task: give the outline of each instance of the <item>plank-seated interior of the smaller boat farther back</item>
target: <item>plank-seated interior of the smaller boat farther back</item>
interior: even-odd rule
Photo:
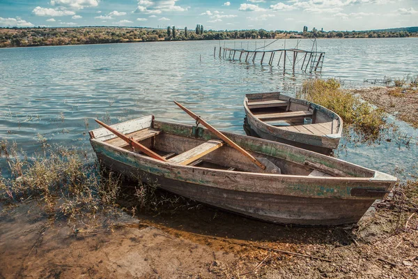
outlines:
[[[339,121],[318,110],[316,105],[300,103],[279,93],[247,94],[248,110],[261,121],[282,130],[311,135],[338,133]]]

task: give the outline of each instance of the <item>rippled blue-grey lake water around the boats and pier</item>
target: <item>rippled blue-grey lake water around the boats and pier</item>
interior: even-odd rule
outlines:
[[[173,103],[178,100],[215,127],[244,133],[245,93],[293,94],[309,74],[283,73],[277,67],[214,59],[213,48],[247,48],[272,40],[191,41],[28,47],[0,49],[0,139],[16,141],[29,154],[39,148],[38,134],[49,144],[77,146],[91,153],[88,130],[95,118],[116,123],[154,114],[156,119],[194,123]],[[267,47],[284,47],[284,40]],[[286,40],[286,47],[311,50],[309,39]],[[318,40],[325,51],[322,77],[346,86],[385,75],[418,74],[418,38]],[[393,118],[392,118],[393,119]],[[410,171],[418,155],[417,130],[396,121],[412,137],[365,146],[346,140],[337,156],[391,174]],[[6,162],[0,159],[0,167]]]

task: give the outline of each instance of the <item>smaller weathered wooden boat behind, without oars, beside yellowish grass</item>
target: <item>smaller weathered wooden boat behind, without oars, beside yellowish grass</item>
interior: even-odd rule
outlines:
[[[343,120],[325,107],[274,92],[245,95],[244,108],[249,135],[326,155],[338,147]]]

